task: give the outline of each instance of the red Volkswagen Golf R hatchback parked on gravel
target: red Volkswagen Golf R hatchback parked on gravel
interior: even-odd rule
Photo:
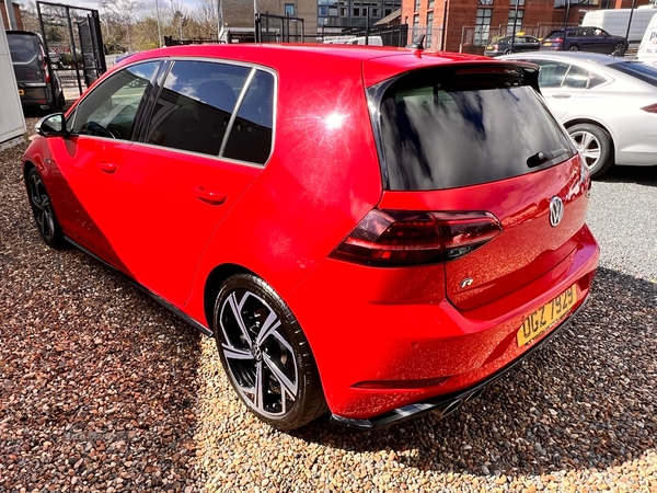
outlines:
[[[530,64],[157,49],[37,133],[44,240],[214,334],[280,429],[448,414],[568,321],[598,263],[587,168]]]

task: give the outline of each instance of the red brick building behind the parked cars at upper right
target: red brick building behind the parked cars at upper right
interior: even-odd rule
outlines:
[[[402,23],[414,35],[426,34],[433,49],[482,54],[488,39],[523,31],[544,36],[564,25],[567,0],[403,0]],[[568,24],[579,24],[586,12],[629,9],[633,0],[570,0]],[[516,5],[516,2],[518,4]],[[635,7],[649,0],[635,0]],[[517,16],[516,16],[517,7]]]

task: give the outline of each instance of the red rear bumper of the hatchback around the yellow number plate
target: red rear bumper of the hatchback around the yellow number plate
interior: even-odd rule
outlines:
[[[333,419],[377,427],[445,412],[508,371],[587,299],[599,249],[586,226],[578,236],[578,246],[555,268],[468,311],[437,299],[445,293],[440,265],[402,271],[325,261],[288,301],[312,347]],[[519,347],[525,319],[573,285],[577,305]]]

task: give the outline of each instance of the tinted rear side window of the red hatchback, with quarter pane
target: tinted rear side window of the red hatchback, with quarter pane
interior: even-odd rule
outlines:
[[[274,77],[212,61],[175,61],[147,141],[264,164],[272,149]],[[237,114],[235,114],[237,112]]]

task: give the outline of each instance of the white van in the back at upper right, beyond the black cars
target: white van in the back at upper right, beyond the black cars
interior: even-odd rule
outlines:
[[[632,9],[606,9],[587,12],[581,21],[583,26],[601,27],[609,34],[623,36],[627,34]],[[634,9],[632,24],[630,25],[629,43],[639,43],[653,15],[657,13],[657,5],[642,5]]]

